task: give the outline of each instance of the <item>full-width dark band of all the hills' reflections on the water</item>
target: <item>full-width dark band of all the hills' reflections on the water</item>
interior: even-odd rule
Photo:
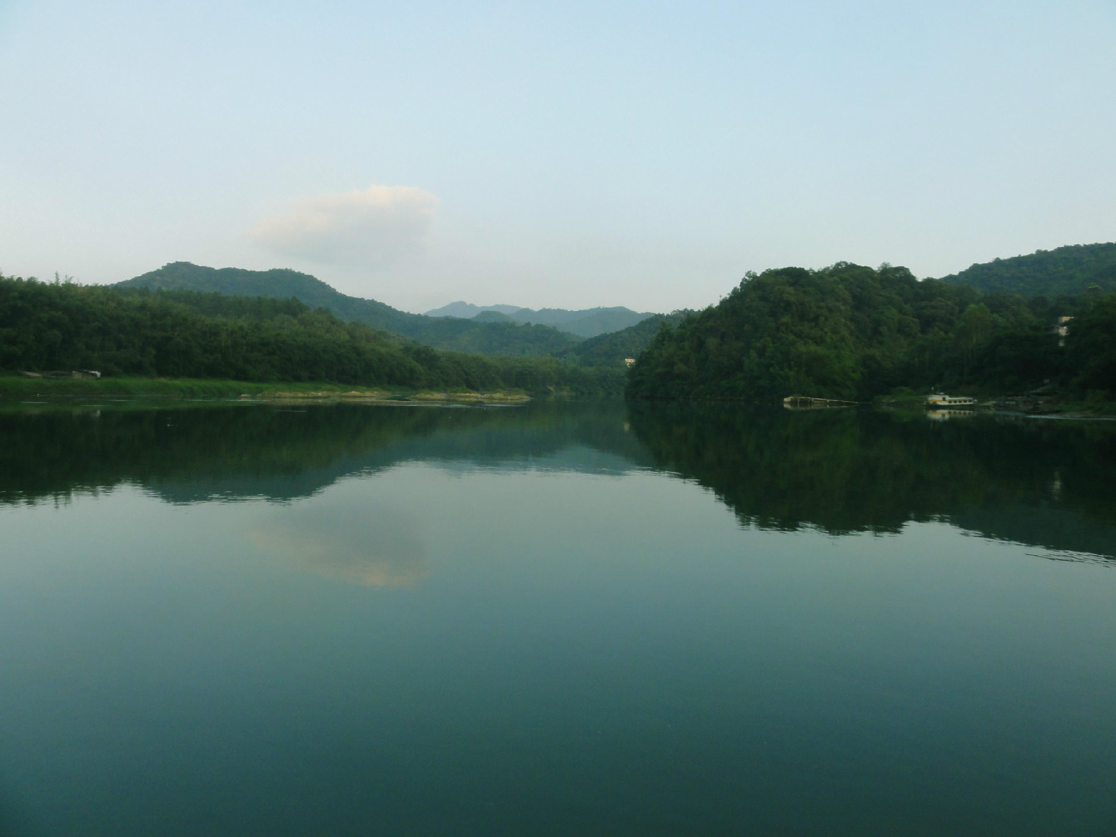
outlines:
[[[628,430],[631,429],[631,432]],[[144,487],[288,501],[403,462],[623,473],[712,489],[749,526],[984,537],[1116,558],[1116,426],[739,406],[219,406],[0,414],[0,502]]]

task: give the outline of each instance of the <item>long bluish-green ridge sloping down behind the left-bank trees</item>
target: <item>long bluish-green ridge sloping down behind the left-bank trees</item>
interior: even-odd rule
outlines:
[[[176,261],[114,286],[122,290],[189,290],[238,297],[295,298],[344,320],[392,331],[434,348],[482,355],[552,355],[578,338],[548,326],[477,323],[408,314],[374,299],[350,297],[296,270],[208,268]]]

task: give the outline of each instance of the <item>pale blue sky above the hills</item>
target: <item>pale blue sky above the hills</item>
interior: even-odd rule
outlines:
[[[1116,240],[1116,2],[3,2],[0,270],[701,307]]]

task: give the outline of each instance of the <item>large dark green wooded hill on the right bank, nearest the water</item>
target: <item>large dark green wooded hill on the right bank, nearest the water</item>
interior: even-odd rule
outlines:
[[[1052,333],[1072,316],[1065,345]],[[716,306],[661,330],[637,358],[628,394],[658,398],[866,400],[923,392],[1060,386],[1116,393],[1116,295],[1051,304],[906,268],[840,262],[749,273]]]

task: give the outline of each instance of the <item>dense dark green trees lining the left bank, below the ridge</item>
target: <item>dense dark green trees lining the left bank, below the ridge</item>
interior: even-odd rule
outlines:
[[[491,391],[608,392],[554,358],[485,358],[404,341],[297,299],[133,290],[0,277],[0,369],[334,382]],[[531,386],[511,381],[529,381]]]

